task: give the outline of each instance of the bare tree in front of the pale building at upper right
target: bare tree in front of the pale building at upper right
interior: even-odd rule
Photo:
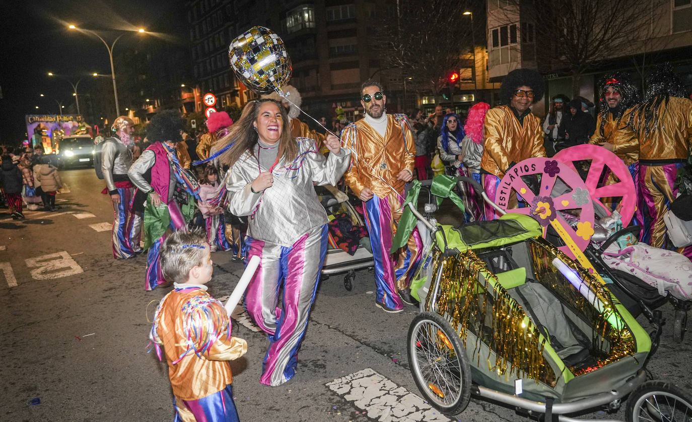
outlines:
[[[493,0],[491,0],[493,1]],[[495,0],[497,1],[497,0]],[[597,64],[635,53],[637,46],[654,37],[651,15],[669,5],[668,0],[507,0],[522,22],[536,28],[536,39],[549,48],[537,52],[539,69],[568,69],[572,94],[579,94],[579,78]],[[507,12],[510,16],[510,12]],[[516,18],[515,18],[516,19]]]

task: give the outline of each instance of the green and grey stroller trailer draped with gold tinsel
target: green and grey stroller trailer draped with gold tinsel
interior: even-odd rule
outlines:
[[[480,184],[459,179],[501,211]],[[411,285],[420,313],[408,362],[438,410],[461,412],[473,392],[547,421],[577,421],[567,415],[614,411],[629,396],[628,421],[689,420],[685,392],[646,381],[660,324],[652,321],[650,337],[594,274],[540,237],[534,218],[507,213],[451,227],[407,206],[434,239]]]

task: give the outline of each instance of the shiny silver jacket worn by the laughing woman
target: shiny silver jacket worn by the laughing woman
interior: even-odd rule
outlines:
[[[296,138],[298,159],[286,163],[282,158],[274,168],[273,186],[260,193],[251,191],[260,175],[260,164],[249,152],[240,156],[228,170],[228,211],[248,218],[248,235],[259,240],[290,247],[311,229],[329,221],[313,184],[336,185],[347,170],[351,151],[341,148],[339,155],[320,154],[315,141]],[[262,168],[267,171],[268,168]]]

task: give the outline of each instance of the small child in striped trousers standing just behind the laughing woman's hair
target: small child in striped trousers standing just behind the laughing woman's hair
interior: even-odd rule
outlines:
[[[204,169],[201,182],[199,184],[199,197],[201,201],[197,204],[199,211],[204,218],[207,229],[207,241],[212,252],[217,249],[227,251],[230,244],[226,240],[226,222],[224,221],[224,209],[211,206],[209,200],[214,196],[214,191],[219,187],[219,170],[214,166],[207,166]]]

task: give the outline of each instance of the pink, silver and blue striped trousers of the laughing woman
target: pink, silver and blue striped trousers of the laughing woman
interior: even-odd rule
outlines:
[[[298,349],[315,300],[322,263],[327,253],[327,225],[311,229],[291,247],[246,237],[246,263],[260,257],[245,294],[245,308],[268,334],[260,383],[281,385],[293,378]],[[277,307],[279,290],[281,306]]]

